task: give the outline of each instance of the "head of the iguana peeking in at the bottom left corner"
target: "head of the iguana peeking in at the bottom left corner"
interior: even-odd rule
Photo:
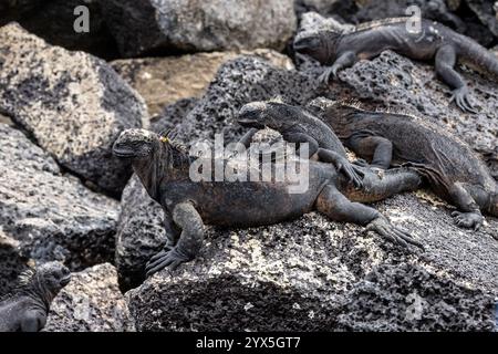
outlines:
[[[49,262],[29,270],[19,278],[21,288],[41,292],[45,299],[53,299],[71,281],[71,272],[60,262]]]

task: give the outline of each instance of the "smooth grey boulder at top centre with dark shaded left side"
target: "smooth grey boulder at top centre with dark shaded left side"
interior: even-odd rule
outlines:
[[[100,2],[125,56],[158,50],[280,50],[297,23],[293,0]]]

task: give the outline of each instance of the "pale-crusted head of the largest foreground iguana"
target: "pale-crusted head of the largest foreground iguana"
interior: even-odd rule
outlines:
[[[120,158],[146,159],[154,154],[159,136],[146,129],[126,129],[121,133],[113,146]]]

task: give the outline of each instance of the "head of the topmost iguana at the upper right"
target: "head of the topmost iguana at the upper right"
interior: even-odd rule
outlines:
[[[328,64],[335,58],[335,42],[341,32],[332,30],[313,30],[299,32],[294,39],[294,51]]]

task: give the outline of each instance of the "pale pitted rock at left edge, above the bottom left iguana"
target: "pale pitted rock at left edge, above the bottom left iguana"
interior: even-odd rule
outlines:
[[[0,232],[19,242],[21,254],[72,269],[111,260],[118,207],[0,124]]]

